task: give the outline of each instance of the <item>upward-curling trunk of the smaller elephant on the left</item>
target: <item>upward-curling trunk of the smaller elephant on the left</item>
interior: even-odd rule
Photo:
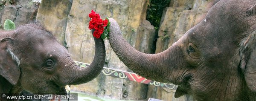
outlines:
[[[95,55],[93,58],[93,62],[90,64],[90,66],[86,68],[81,68],[78,65],[76,65],[76,63],[74,63],[74,61],[71,58],[68,59],[70,65],[67,67],[69,67],[69,69],[71,70],[65,70],[67,73],[64,74],[67,75],[65,78],[66,81],[64,81],[66,85],[83,84],[93,80],[100,74],[105,63],[105,44],[101,38],[94,38],[94,43]]]

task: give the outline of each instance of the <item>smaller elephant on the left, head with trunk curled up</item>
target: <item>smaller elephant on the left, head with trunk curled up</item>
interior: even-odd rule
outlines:
[[[96,78],[105,63],[105,45],[95,41],[93,62],[80,68],[67,49],[46,29],[35,24],[0,33],[0,92],[65,93],[67,84]],[[12,85],[12,86],[11,86]]]

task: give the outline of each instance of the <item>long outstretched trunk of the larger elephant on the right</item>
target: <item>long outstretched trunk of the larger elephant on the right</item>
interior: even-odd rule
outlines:
[[[177,82],[176,78],[171,78],[170,75],[174,75],[171,71],[178,66],[177,63],[180,62],[178,58],[183,56],[177,50],[179,46],[174,44],[158,54],[139,52],[122,38],[118,23],[112,18],[109,20],[111,22],[109,43],[119,59],[129,69],[147,79],[163,80],[161,82],[171,81],[174,84]]]

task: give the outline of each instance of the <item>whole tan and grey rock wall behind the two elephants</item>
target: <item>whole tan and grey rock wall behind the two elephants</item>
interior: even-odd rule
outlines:
[[[6,1],[6,0],[4,0]],[[16,25],[29,20],[36,21],[52,32],[58,41],[70,52],[76,61],[91,63],[94,56],[94,41],[88,29],[91,10],[102,18],[112,17],[118,23],[123,37],[134,48],[145,53],[159,53],[176,42],[185,32],[198,23],[198,17],[204,17],[211,5],[207,0],[171,0],[162,15],[158,30],[156,50],[154,40],[156,31],[145,20],[149,0],[16,0],[16,3],[0,3],[0,23],[6,18]],[[207,9],[206,9],[207,8]],[[108,40],[105,40],[105,66],[130,71],[115,55]],[[192,101],[192,98],[174,98],[175,90],[148,86],[110,76],[99,75],[86,84],[73,85],[72,90],[85,92],[105,98],[145,100],[157,98],[165,101]]]

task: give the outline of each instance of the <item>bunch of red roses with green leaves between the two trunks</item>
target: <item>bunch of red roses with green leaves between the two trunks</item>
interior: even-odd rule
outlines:
[[[89,29],[94,29],[93,32],[93,37],[95,38],[102,38],[105,39],[106,37],[109,38],[109,27],[110,27],[110,22],[108,18],[105,20],[102,20],[100,18],[99,14],[96,14],[93,10],[89,14],[89,17],[91,18],[90,23],[89,23]]]

